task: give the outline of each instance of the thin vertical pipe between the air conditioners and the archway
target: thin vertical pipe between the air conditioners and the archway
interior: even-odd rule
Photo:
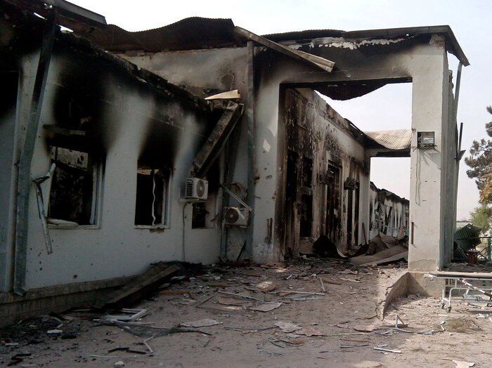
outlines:
[[[251,207],[251,214],[254,215],[254,44],[252,41],[247,43],[247,204]],[[254,216],[250,216],[250,223],[246,233],[246,251],[247,256],[253,256],[253,234],[254,234]]]

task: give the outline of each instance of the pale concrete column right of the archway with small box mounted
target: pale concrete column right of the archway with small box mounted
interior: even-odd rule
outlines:
[[[449,144],[442,139],[448,129],[448,60],[444,42],[415,50],[410,64],[413,78],[412,150],[410,152],[409,270],[430,271],[444,264],[444,194],[452,183],[444,178],[444,155]],[[417,148],[417,133],[433,131],[434,149]],[[451,203],[452,204],[452,203]]]

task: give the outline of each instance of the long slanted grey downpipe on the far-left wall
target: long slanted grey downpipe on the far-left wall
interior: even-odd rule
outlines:
[[[15,223],[15,263],[13,291],[15,294],[25,293],[25,271],[27,261],[27,231],[29,227],[29,203],[31,191],[31,163],[36,143],[41,107],[43,106],[46,80],[55,42],[57,27],[56,10],[53,9],[46,22],[41,51],[37,66],[36,79],[30,104],[30,119],[25,130],[24,144],[20,154],[18,169],[18,202]]]

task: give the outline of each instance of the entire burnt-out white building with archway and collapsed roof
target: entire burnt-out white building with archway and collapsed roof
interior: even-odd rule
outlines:
[[[447,54],[468,61],[448,26],[260,37],[188,18],[127,32],[58,3],[0,3],[5,321],[89,303],[157,261],[276,261],[321,235],[347,251],[369,237],[371,157],[411,159],[410,269],[451,260]],[[315,92],[406,82],[403,132],[364,133]]]

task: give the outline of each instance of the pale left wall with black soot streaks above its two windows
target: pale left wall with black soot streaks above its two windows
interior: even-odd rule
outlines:
[[[34,79],[33,55],[20,59],[20,96],[30,93],[31,85],[24,81]],[[220,114],[208,103],[197,104],[162,88],[159,92],[122,65],[59,39],[48,73],[32,176],[46,174],[53,146],[86,152],[98,166],[92,178],[93,220],[86,225],[51,224],[53,253],[47,254],[32,188],[27,289],[134,275],[157,261],[216,262],[219,230],[200,229],[183,237],[183,226],[191,229],[191,206],[180,199],[193,158]],[[142,162],[169,172],[165,225],[135,225]],[[54,180],[41,185],[46,213],[53,185]]]

